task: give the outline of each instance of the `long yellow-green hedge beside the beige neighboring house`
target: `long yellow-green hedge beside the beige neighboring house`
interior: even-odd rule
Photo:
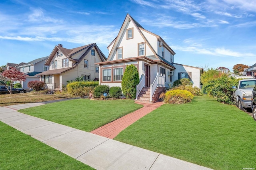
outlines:
[[[73,94],[75,89],[79,87],[96,87],[99,85],[99,81],[73,81],[66,86],[68,93]]]

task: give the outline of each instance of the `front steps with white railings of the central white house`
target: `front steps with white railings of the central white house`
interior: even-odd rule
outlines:
[[[155,103],[162,92],[166,91],[165,75],[156,73],[156,78],[149,85],[149,75],[146,71],[140,77],[140,83],[136,85],[136,101],[142,103]]]

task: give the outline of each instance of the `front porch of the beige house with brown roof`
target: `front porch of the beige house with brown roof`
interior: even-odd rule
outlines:
[[[44,81],[44,89],[47,90],[62,90],[62,83],[60,74],[42,75]]]

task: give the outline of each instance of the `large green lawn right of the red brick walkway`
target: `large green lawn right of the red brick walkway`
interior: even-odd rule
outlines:
[[[208,96],[165,104],[114,139],[217,170],[256,168],[256,122]]]

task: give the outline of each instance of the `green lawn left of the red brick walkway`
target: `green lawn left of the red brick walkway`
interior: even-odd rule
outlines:
[[[133,100],[74,99],[19,110],[21,113],[90,132],[143,107]]]

